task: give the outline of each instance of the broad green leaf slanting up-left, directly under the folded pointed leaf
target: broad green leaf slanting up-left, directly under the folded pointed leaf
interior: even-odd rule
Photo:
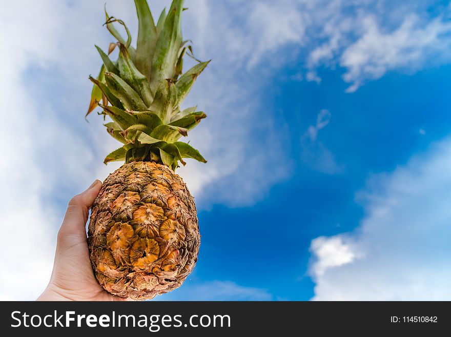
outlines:
[[[146,104],[138,93],[127,82],[112,72],[105,72],[105,81],[110,91],[119,98],[120,102],[129,110],[147,110]]]

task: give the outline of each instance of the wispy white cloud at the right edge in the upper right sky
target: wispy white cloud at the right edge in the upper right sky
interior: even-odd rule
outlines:
[[[401,26],[383,32],[372,16],[363,19],[364,33],[342,53],[340,65],[346,68],[343,78],[353,83],[347,92],[354,92],[365,80],[382,77],[393,69],[416,70],[428,56],[449,61],[451,23],[436,18],[425,24],[417,15],[408,15]]]

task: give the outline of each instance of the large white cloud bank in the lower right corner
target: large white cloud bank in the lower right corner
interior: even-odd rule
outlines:
[[[451,140],[368,183],[350,233],[312,241],[314,300],[450,300]]]

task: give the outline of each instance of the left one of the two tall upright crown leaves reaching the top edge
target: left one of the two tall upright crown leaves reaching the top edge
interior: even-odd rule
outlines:
[[[136,43],[136,68],[150,78],[153,53],[157,43],[157,30],[146,0],[135,0],[138,14],[138,41]]]

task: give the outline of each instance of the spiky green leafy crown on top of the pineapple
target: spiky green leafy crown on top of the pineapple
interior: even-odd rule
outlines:
[[[175,170],[183,158],[207,161],[188,143],[179,142],[187,136],[202,118],[207,117],[196,107],[180,110],[180,103],[188,95],[197,76],[208,65],[197,65],[182,73],[183,56],[194,58],[189,41],[181,34],[183,0],[173,0],[166,14],[163,9],[155,25],[146,0],[135,0],[138,14],[138,39],[136,49],[131,47],[131,35],[123,21],[109,16],[106,9],[107,29],[117,40],[111,43],[108,54],[96,46],[103,65],[94,83],[89,113],[97,106],[99,114],[110,116],[105,124],[108,133],[124,144],[111,152],[104,163],[112,161],[152,161]],[[124,26],[125,40],[113,23]],[[116,61],[109,54],[119,48]]]

